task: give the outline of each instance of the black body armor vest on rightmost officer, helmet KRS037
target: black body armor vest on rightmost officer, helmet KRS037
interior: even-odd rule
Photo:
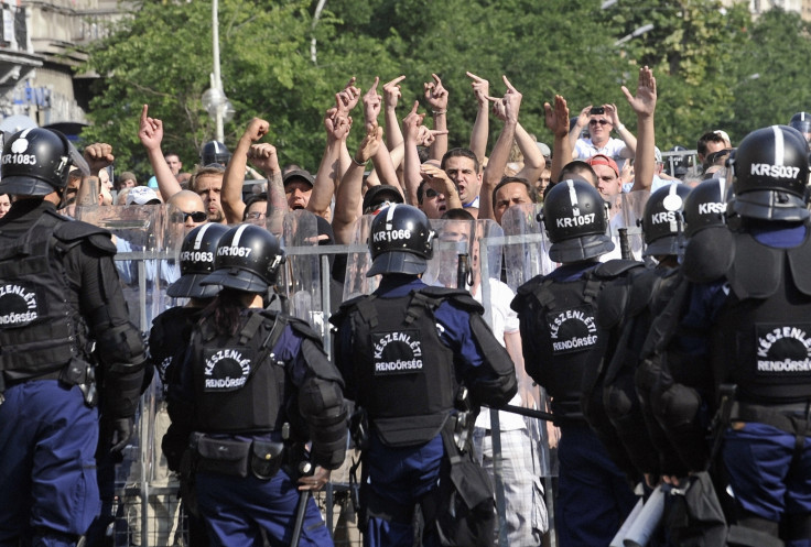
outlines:
[[[811,393],[811,238],[792,249],[735,233],[732,289],[712,336],[716,386],[745,403],[786,404]]]

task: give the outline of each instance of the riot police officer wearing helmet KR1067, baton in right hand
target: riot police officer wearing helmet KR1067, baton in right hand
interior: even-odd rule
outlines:
[[[342,380],[304,321],[263,309],[284,253],[253,225],[231,228],[203,283],[221,292],[191,335],[173,422],[194,431],[197,505],[212,545],[288,545],[299,490],[316,490],[344,461]],[[185,403],[185,404],[184,404]],[[299,477],[312,441],[315,473]],[[312,499],[301,545],[332,545]]]

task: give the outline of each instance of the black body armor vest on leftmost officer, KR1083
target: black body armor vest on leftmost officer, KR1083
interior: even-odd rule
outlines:
[[[66,249],[54,237],[65,222],[46,211],[17,241],[0,244],[0,370],[7,381],[87,359],[82,347],[87,328],[68,302]]]

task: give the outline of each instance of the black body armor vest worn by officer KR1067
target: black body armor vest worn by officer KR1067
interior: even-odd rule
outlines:
[[[256,310],[236,336],[217,335],[212,316],[192,333],[195,424],[203,433],[280,431],[293,386],[274,346],[291,318]]]

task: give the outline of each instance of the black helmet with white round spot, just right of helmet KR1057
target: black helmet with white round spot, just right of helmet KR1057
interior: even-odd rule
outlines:
[[[679,236],[684,231],[682,210],[688,194],[689,187],[671,183],[650,195],[642,216],[644,256],[679,254]]]

